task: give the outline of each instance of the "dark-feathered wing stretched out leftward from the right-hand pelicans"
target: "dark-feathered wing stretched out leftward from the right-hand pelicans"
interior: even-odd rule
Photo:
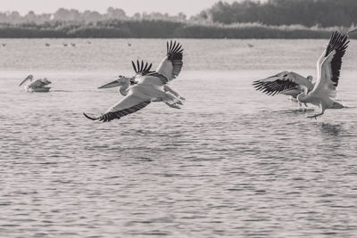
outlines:
[[[274,75],[269,78],[256,80],[253,82],[253,86],[257,91],[262,91],[264,94],[268,95],[275,95],[292,89],[303,92],[302,86],[312,88],[312,84],[307,78],[295,78],[288,73],[286,74],[286,77]]]

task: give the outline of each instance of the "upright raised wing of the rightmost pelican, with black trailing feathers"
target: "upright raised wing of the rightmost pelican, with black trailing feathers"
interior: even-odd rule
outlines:
[[[329,94],[336,96],[336,86],[340,77],[342,57],[347,49],[348,35],[335,31],[329,39],[325,51],[318,61],[318,79],[311,94]]]

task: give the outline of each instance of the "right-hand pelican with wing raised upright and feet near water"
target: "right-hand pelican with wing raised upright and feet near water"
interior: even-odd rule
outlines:
[[[294,91],[298,102],[311,103],[321,108],[321,112],[308,117],[310,119],[317,119],[327,109],[344,108],[341,103],[335,102],[333,98],[336,97],[336,86],[340,77],[342,58],[350,42],[348,37],[356,30],[353,29],[346,34],[335,31],[332,34],[328,45],[317,62],[318,74],[314,84],[309,79],[294,72],[285,71],[270,78],[254,81],[253,86],[257,90],[270,95]]]

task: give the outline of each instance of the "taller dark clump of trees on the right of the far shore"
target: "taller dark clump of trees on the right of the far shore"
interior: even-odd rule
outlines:
[[[200,12],[197,19],[231,24],[261,22],[266,25],[320,26],[323,28],[357,23],[356,0],[245,0],[228,4],[218,2]]]

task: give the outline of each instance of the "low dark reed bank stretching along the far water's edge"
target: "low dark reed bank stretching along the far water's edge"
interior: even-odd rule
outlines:
[[[333,30],[301,25],[267,26],[261,23],[231,25],[183,21],[0,23],[0,38],[329,38]],[[357,36],[352,36],[357,38]]]

